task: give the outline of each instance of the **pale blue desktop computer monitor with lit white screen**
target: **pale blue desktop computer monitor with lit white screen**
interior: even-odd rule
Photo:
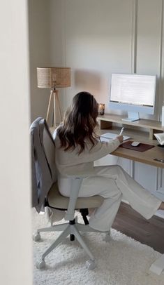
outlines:
[[[156,75],[112,74],[110,109],[128,112],[125,121],[137,121],[139,112],[154,114]]]

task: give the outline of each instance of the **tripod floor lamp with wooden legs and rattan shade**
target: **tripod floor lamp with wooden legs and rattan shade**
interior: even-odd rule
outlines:
[[[56,110],[59,112],[60,120],[61,107],[59,103],[59,91],[56,88],[70,87],[70,67],[37,67],[38,88],[50,88],[50,99],[47,107],[46,121],[50,115],[50,106],[53,104],[53,123],[57,126]]]

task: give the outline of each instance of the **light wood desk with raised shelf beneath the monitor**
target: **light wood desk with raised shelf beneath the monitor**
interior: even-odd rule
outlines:
[[[98,116],[100,134],[107,132],[119,134],[121,127],[124,126],[123,135],[130,136],[130,140],[146,143],[148,145],[154,145],[154,147],[150,150],[146,150],[145,152],[138,152],[135,150],[128,150],[123,147],[118,147],[118,149],[112,152],[112,154],[116,155],[117,157],[124,157],[126,159],[138,161],[143,164],[150,164],[151,166],[164,168],[164,162],[154,160],[162,159],[164,161],[164,148],[158,147],[158,141],[154,137],[154,133],[164,131],[164,127],[161,126],[161,122],[146,119],[126,122],[121,121],[121,118],[122,117],[117,115]]]

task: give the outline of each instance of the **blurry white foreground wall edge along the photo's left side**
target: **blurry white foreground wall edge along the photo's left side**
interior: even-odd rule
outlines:
[[[1,2],[0,282],[32,284],[27,0]]]

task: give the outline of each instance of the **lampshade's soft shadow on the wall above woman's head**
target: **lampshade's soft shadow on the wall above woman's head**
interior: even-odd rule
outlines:
[[[88,69],[75,70],[75,87],[90,92],[100,92],[101,77],[100,73]]]

